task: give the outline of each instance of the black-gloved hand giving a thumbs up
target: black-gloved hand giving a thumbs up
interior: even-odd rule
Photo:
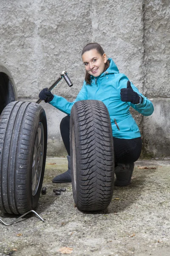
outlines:
[[[127,81],[127,88],[120,90],[120,97],[123,102],[132,102],[133,104],[138,104],[141,99],[139,94],[132,89],[130,81]]]

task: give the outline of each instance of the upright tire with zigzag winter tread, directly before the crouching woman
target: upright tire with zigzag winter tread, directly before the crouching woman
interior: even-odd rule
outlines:
[[[104,103],[76,102],[71,109],[70,136],[75,204],[80,211],[104,210],[114,184],[113,136]]]

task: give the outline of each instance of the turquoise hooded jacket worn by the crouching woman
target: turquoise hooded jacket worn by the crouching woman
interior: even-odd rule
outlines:
[[[109,58],[110,66],[97,78],[91,76],[91,84],[84,81],[82,89],[79,91],[74,102],[68,102],[61,96],[54,95],[50,102],[55,108],[70,115],[71,108],[79,100],[96,99],[102,101],[108,108],[111,118],[113,137],[122,139],[134,139],[141,137],[139,128],[130,114],[129,108],[132,107],[144,116],[150,116],[153,113],[153,104],[131,83],[133,90],[138,93],[143,102],[132,104],[131,102],[122,102],[120,98],[121,88],[127,88],[128,78],[119,73],[114,61]]]

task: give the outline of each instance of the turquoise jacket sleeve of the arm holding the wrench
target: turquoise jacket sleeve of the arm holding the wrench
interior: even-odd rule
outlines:
[[[88,93],[84,82],[82,89],[79,91],[79,94],[77,95],[77,98],[74,100],[74,102],[68,102],[64,97],[54,95],[54,98],[51,100],[51,102],[49,102],[49,104],[59,109],[60,111],[70,115],[71,108],[73,107],[74,103],[87,98]]]

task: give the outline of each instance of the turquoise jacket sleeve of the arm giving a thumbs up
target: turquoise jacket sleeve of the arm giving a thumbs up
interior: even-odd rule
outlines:
[[[127,78],[121,79],[119,81],[119,90],[122,88],[127,88]],[[143,116],[150,116],[153,113],[153,104],[152,102],[147,99],[142,93],[139,92],[139,90],[133,85],[132,82],[130,82],[132,89],[138,93],[142,98],[143,98],[143,102],[139,103],[139,104],[132,104],[131,102],[127,102],[127,104],[134,108],[136,111],[138,111],[139,113],[141,113]]]

